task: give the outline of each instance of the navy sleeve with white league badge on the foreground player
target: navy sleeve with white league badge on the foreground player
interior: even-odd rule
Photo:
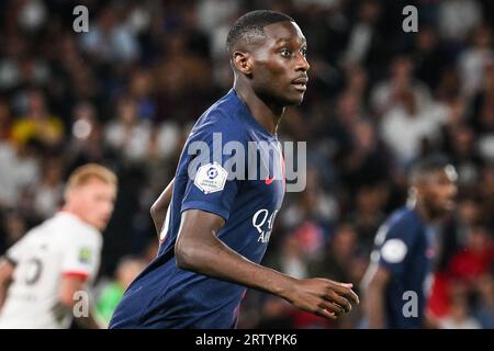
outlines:
[[[199,150],[190,158],[187,186],[181,203],[181,212],[202,210],[223,217],[229,217],[242,180],[232,174],[233,163],[245,169],[245,158],[242,152],[222,152],[225,145],[246,150],[247,137],[243,128],[224,124],[221,127],[209,127],[199,131]],[[189,144],[190,145],[190,144]],[[187,149],[184,150],[188,151]],[[245,155],[245,154],[244,154]]]

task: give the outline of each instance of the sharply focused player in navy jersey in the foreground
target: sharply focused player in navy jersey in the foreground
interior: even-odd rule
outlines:
[[[110,328],[235,328],[247,287],[329,319],[358,304],[351,284],[259,264],[285,191],[278,124],[285,106],[302,103],[307,83],[301,29],[283,13],[254,11],[235,22],[226,44],[234,87],[198,120],[173,181],[153,205],[158,256],[131,284]],[[217,152],[226,145],[237,152]],[[252,145],[258,166],[238,152]]]

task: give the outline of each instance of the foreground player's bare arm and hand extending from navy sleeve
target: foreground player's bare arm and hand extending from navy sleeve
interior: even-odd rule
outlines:
[[[222,217],[207,212],[183,212],[175,246],[178,267],[278,295],[295,307],[329,319],[358,304],[351,284],[326,279],[296,280],[247,260],[216,237],[224,224]]]

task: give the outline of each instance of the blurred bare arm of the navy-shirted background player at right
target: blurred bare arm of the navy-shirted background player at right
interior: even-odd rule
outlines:
[[[369,328],[385,328],[384,293],[391,279],[391,272],[380,265],[369,268],[372,270],[366,288],[366,310],[369,316]]]

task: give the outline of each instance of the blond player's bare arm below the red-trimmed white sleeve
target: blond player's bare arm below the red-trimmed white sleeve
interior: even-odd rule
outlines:
[[[81,301],[76,298],[77,292],[81,292],[86,290],[85,280],[82,278],[77,276],[64,276],[61,279],[61,284],[58,291],[58,301],[60,308],[67,310],[70,309],[70,313],[74,313],[74,306]],[[90,302],[83,302],[88,304],[87,306],[80,306],[81,309],[87,312],[86,316],[76,317],[76,322],[87,329],[100,329],[100,326],[91,313],[91,304]]]

